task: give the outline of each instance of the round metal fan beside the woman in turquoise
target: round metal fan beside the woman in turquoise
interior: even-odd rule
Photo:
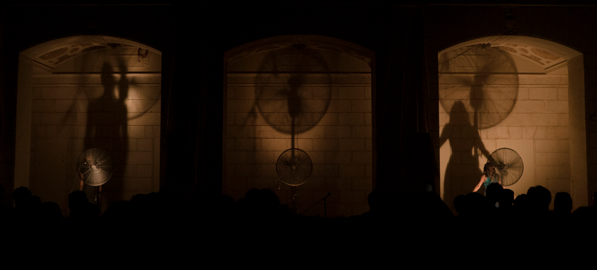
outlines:
[[[505,187],[514,185],[525,170],[520,155],[510,148],[499,148],[493,151],[488,161],[495,166],[495,171],[500,175],[502,185]]]

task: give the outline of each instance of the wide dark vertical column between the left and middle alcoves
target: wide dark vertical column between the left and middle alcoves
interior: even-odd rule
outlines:
[[[181,198],[221,193],[223,57],[204,16],[203,6],[178,6],[173,52],[164,55],[161,188]]]

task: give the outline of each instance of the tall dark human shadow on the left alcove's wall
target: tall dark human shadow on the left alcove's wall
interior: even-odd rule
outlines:
[[[129,150],[128,110],[125,101],[129,95],[129,81],[126,65],[122,59],[118,61],[119,77],[115,75],[112,66],[104,62],[101,74],[104,95],[90,100],[87,107],[85,148],[102,148],[114,161],[114,174],[107,183],[99,187],[85,185],[83,189],[90,202],[94,202],[94,194],[101,191],[99,206],[102,210],[112,202],[124,199],[124,171]]]

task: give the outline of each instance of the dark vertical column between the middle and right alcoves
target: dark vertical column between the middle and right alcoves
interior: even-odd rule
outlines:
[[[419,8],[402,6],[380,23],[384,38],[376,50],[376,189],[423,192],[436,165],[426,133],[426,72],[423,21]]]

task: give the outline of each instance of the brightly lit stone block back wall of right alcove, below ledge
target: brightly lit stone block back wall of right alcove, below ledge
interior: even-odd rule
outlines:
[[[467,132],[470,131],[470,122],[451,122],[451,117],[461,114],[469,114],[473,119],[470,107],[451,110],[442,106],[442,101],[446,104],[451,99],[448,103],[453,104],[466,98],[466,95],[461,95],[463,90],[470,92],[470,87],[464,89],[463,85],[453,83],[455,80],[451,77],[454,76],[441,75],[439,79],[440,138],[452,141],[443,144],[440,151],[442,193],[448,205],[456,195],[469,193],[478,183],[483,164],[487,161],[480,150],[483,147],[489,153],[507,147],[520,154],[525,171],[519,182],[508,187],[515,191],[515,195],[526,193],[534,185],[548,188],[552,197],[562,191],[570,193],[567,69],[549,75],[518,75],[517,85],[483,85],[490,89],[487,92],[490,92],[491,99],[515,99],[515,104],[498,124],[474,132]],[[517,88],[517,92],[512,91],[513,87]],[[478,147],[473,148],[473,145]],[[446,178],[451,179],[449,183],[446,183]]]

